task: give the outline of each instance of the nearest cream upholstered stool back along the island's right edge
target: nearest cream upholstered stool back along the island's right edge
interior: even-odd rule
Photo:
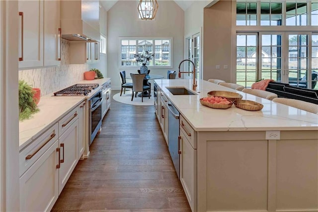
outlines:
[[[318,114],[318,105],[301,100],[287,99],[287,98],[275,98],[273,102],[280,103],[287,106],[296,107],[298,109],[306,110]]]

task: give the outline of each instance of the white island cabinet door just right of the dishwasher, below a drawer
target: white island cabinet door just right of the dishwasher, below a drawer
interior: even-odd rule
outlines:
[[[193,149],[189,140],[187,139],[189,132],[186,132],[180,127],[180,181],[188,199],[190,208],[192,212],[196,212],[196,198],[197,198],[197,187],[196,187],[196,160],[197,160],[197,150]]]

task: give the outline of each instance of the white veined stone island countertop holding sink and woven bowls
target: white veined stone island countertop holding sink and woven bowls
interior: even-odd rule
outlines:
[[[318,114],[285,106],[245,94],[224,86],[198,80],[198,95],[172,95],[165,87],[185,87],[192,91],[193,80],[155,80],[167,98],[195,131],[264,131],[264,130],[318,130]],[[258,111],[247,111],[234,106],[214,109],[200,104],[210,91],[231,91],[263,104]]]

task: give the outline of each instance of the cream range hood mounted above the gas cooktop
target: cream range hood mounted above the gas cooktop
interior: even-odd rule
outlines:
[[[99,1],[61,1],[62,38],[69,41],[99,42]]]

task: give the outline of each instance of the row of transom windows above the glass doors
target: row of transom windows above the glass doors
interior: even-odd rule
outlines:
[[[237,26],[318,26],[317,0],[238,0],[236,6]]]

